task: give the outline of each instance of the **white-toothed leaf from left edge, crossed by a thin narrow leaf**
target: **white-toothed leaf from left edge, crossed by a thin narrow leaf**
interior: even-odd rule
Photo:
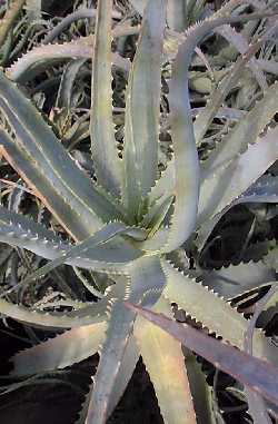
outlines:
[[[28,219],[0,206],[0,241],[11,246],[18,246],[33,252],[36,255],[46,259],[58,259],[77,246],[61,240],[54,233],[48,230],[42,225]],[[117,248],[116,248],[117,247]],[[139,258],[142,253],[131,245],[121,240],[111,239],[97,247],[88,247],[83,253],[80,252],[76,257],[63,257],[62,263],[89,268],[105,273],[125,273],[129,262]]]

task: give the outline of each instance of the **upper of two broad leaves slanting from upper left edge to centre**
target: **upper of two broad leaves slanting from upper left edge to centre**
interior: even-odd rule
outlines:
[[[0,109],[16,135],[18,156],[21,155],[17,158],[18,161],[21,159],[20,166],[23,168],[22,155],[28,156],[28,164],[32,164],[42,183],[62,197],[63,203],[68,204],[68,209],[72,208],[80,216],[79,221],[87,227],[87,234],[88,228],[91,228],[91,231],[98,229],[106,217],[115,218],[118,215],[107,195],[92,185],[70,159],[37,109],[2,73],[0,73]],[[4,140],[7,144],[9,141],[12,139]],[[13,158],[11,160],[14,161]],[[23,168],[22,174],[33,184],[30,170],[26,175]],[[39,188],[37,193],[40,193]],[[51,201],[51,197],[44,198],[43,191],[41,197],[48,203]],[[56,211],[53,205],[52,209]],[[76,236],[80,237],[79,234]]]

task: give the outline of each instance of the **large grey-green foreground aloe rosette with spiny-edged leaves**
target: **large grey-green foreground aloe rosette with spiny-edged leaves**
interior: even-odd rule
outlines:
[[[178,48],[169,81],[173,155],[163,171],[159,170],[158,155],[165,0],[149,1],[145,10],[128,77],[122,158],[112,117],[112,1],[98,3],[90,109],[97,181],[76,166],[36,107],[14,82],[0,73],[2,156],[69,236],[68,241],[62,240],[29,217],[1,206],[0,240],[52,259],[24,283],[61,264],[108,276],[108,287],[99,294],[97,303],[87,303],[70,313],[46,313],[0,299],[0,313],[6,316],[29,325],[67,329],[16,354],[13,376],[47,373],[100,354],[93,388],[79,423],[83,417],[87,424],[107,421],[140,355],[165,422],[196,422],[180,344],[139,319],[136,312],[126,308],[126,300],[168,316],[172,316],[171,303],[177,303],[209,332],[244,348],[248,322],[227,302],[234,293],[225,293],[226,299],[222,298],[189,272],[181,273],[171,260],[193,234],[197,245],[201,245],[234,203],[248,201],[250,186],[255,190],[254,200],[268,201],[267,188],[260,197],[254,184],[278,158],[278,129],[268,128],[278,111],[278,85],[265,90],[206,160],[198,158],[195,134],[207,131],[210,103],[205,108],[202,121],[197,118],[193,125],[191,116],[188,79],[196,47],[222,24],[261,16],[230,16],[238,3],[230,1],[215,16],[190,27]],[[262,41],[264,38],[250,48],[250,57]],[[242,58],[241,67],[247,57]],[[7,75],[11,77],[9,71]],[[217,108],[219,99],[215,101]],[[274,195],[270,201],[275,199]],[[254,334],[254,355],[277,363],[276,348],[260,331]]]

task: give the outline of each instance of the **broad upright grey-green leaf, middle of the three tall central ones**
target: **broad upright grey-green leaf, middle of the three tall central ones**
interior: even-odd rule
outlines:
[[[123,203],[139,218],[142,196],[158,174],[160,72],[166,1],[148,2],[141,34],[129,75],[125,126]],[[132,178],[130,176],[132,175]]]

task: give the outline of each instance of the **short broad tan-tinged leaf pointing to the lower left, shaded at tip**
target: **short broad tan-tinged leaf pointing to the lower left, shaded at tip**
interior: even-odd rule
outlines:
[[[106,334],[107,323],[70,329],[54,338],[17,353],[11,375],[24,376],[64,368],[95,355]]]

